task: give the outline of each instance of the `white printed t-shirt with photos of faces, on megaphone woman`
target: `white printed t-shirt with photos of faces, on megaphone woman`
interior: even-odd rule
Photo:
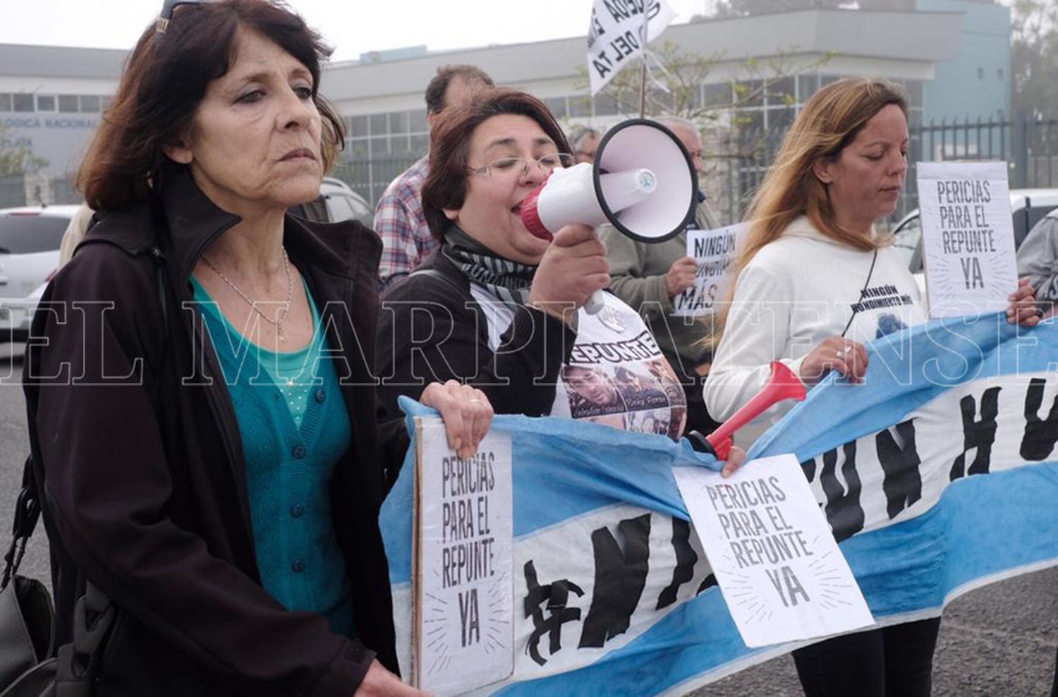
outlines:
[[[513,322],[513,309],[471,283],[488,322],[489,348]],[[551,416],[584,419],[625,430],[679,438],[687,397],[642,318],[616,296],[591,315],[581,309],[569,363],[559,370]]]

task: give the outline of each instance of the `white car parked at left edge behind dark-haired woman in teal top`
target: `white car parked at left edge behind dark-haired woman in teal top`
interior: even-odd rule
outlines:
[[[0,209],[0,344],[22,342],[75,205]]]

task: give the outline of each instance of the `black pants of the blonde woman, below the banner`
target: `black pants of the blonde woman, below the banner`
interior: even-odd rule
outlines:
[[[828,639],[794,652],[807,697],[929,697],[941,619]]]

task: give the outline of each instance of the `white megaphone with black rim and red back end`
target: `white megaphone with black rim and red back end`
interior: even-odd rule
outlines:
[[[545,239],[565,225],[610,223],[640,242],[663,242],[694,218],[698,179],[679,139],[661,124],[633,118],[603,136],[594,164],[555,169],[522,202],[526,228]],[[604,305],[598,291],[584,309]]]

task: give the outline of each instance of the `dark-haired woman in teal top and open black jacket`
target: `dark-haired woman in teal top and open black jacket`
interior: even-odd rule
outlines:
[[[163,14],[85,159],[97,222],[26,354],[58,641],[91,584],[116,609],[96,694],[418,694],[389,672],[378,511],[406,436],[375,417],[380,242],[286,215],[342,143],[327,52],[264,0]],[[485,396],[422,401],[470,456]]]

